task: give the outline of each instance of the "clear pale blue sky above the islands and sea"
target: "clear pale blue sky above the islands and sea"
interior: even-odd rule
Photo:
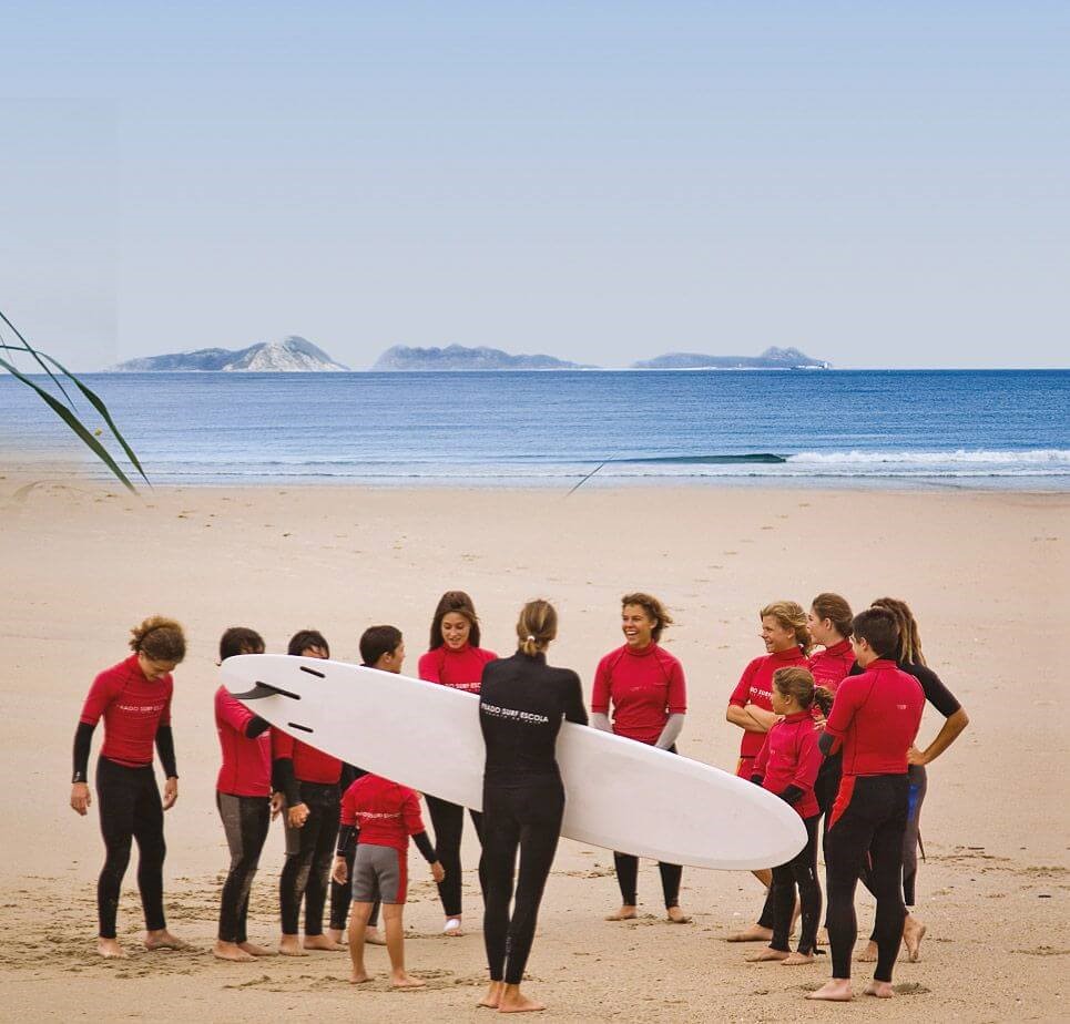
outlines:
[[[2,19],[0,310],[75,370],[292,334],[1068,365],[1064,3]]]

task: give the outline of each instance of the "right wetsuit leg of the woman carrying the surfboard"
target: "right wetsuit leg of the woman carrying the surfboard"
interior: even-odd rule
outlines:
[[[560,784],[513,790],[513,812],[520,821],[520,870],[517,901],[509,921],[506,984],[519,985],[534,940],[539,904],[561,834],[564,790]]]

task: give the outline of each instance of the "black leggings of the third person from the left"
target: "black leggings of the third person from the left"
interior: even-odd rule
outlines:
[[[305,934],[322,935],[327,879],[338,837],[338,785],[298,779],[297,786],[308,820],[299,829],[286,825],[286,862],[278,880],[283,934],[297,934],[304,899]]]

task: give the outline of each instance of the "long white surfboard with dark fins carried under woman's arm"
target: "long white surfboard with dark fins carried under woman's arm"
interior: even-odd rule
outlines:
[[[482,807],[483,738],[472,694],[318,658],[245,654],[226,688],[273,726],[367,771]],[[771,868],[806,842],[798,815],[752,782],[645,744],[564,723],[561,834],[696,868]]]

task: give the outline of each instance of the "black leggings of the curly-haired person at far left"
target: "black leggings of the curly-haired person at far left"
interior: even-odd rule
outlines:
[[[115,917],[123,875],[130,863],[130,841],[137,841],[137,890],[145,928],[167,926],[163,914],[163,805],[152,765],[128,768],[101,757],[96,761],[96,802],[104,837],[104,867],[96,882],[101,939],[115,938]]]

